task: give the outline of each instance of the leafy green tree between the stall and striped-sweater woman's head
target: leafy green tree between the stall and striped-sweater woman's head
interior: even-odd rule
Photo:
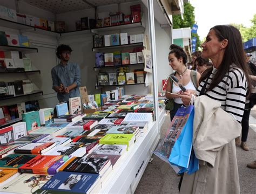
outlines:
[[[183,18],[181,18],[181,15],[173,15],[172,16],[172,23],[173,23],[173,29],[178,29],[182,27],[191,27],[193,24],[196,23],[195,21],[195,16],[194,16],[194,7],[188,3],[184,3],[184,13],[183,13]],[[197,43],[196,43],[196,51],[198,50],[198,47],[200,47],[201,41],[200,37],[198,36],[197,33],[192,33],[191,37],[197,37]]]

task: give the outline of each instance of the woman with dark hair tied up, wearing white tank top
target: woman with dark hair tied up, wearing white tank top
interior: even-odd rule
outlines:
[[[174,72],[172,75],[178,78],[179,84],[182,84],[188,92],[196,93],[196,89],[198,87],[198,81],[201,77],[199,73],[193,70],[188,70],[186,67],[187,63],[187,55],[185,51],[178,45],[172,44],[170,46],[171,51],[169,52],[168,60],[169,65],[173,68]],[[195,75],[195,76],[194,76]],[[194,78],[196,80],[194,80]],[[173,110],[170,112],[171,121],[173,117],[175,116],[178,108],[183,105],[181,99],[180,99],[180,88],[179,86],[176,86],[174,82],[170,81],[170,78],[167,81],[166,86],[166,98],[167,99],[173,99],[174,100],[174,106]],[[171,94],[172,93],[172,94]]]

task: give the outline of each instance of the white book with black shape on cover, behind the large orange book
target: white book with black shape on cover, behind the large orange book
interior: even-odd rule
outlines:
[[[82,157],[85,154],[86,154],[86,148],[79,148],[79,147],[75,147],[75,146],[73,146],[73,147],[72,146],[57,146],[42,155],[47,155],[47,156],[62,155],[62,156]]]

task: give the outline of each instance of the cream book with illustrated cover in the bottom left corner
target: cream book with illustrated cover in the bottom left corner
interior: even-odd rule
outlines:
[[[1,192],[33,193],[50,180],[50,175],[22,174],[1,186]]]

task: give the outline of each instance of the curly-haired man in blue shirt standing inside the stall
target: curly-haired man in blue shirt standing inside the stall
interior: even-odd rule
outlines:
[[[72,49],[69,45],[59,45],[56,55],[60,63],[51,70],[52,89],[57,92],[59,102],[80,96],[80,68],[77,63],[69,61]]]

